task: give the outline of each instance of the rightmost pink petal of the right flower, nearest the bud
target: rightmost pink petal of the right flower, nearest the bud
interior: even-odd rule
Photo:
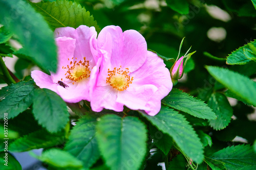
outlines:
[[[132,72],[130,76],[134,77],[131,86],[152,84],[158,88],[154,95],[148,99],[146,107],[149,109],[145,110],[149,115],[156,115],[160,111],[161,100],[173,87],[169,70],[165,67],[163,60],[157,54],[148,51],[145,63],[138,70]]]

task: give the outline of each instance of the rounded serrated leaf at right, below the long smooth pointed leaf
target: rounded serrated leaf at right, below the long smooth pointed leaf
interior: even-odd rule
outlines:
[[[207,104],[217,115],[217,119],[209,120],[209,125],[215,130],[227,127],[233,115],[233,109],[226,96],[221,93],[212,93]]]

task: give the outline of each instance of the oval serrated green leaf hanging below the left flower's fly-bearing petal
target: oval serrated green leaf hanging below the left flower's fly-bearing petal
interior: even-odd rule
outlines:
[[[57,93],[46,88],[35,90],[32,112],[38,123],[49,132],[60,131],[69,121],[66,103]]]

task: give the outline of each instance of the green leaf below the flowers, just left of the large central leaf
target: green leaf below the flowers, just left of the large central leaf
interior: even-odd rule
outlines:
[[[85,168],[91,167],[100,157],[95,137],[96,116],[86,115],[71,130],[65,150],[83,162]]]

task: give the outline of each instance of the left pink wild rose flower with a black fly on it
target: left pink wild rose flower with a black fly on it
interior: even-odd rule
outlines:
[[[101,58],[97,57],[95,28],[57,28],[55,37],[58,48],[57,72],[51,72],[49,76],[34,70],[31,77],[37,86],[55,91],[65,102],[90,101],[101,62]]]

